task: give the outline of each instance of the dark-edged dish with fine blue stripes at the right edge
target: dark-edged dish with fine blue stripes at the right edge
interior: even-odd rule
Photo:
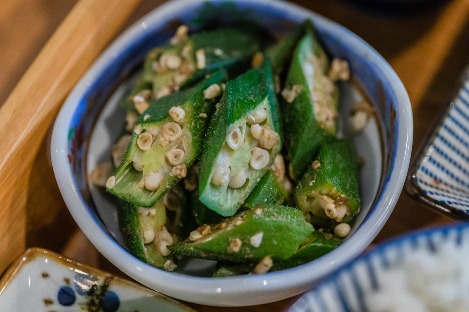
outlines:
[[[436,212],[469,221],[469,69],[412,160],[406,190]]]

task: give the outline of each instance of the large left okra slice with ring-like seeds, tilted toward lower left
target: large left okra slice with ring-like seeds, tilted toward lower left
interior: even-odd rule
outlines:
[[[108,191],[138,207],[152,207],[185,177],[201,150],[207,120],[219,98],[218,83],[225,77],[220,69],[195,87],[154,102],[137,120]],[[207,90],[214,88],[218,94],[207,97]]]

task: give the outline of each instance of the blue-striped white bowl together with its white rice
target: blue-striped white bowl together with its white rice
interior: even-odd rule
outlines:
[[[289,312],[456,311],[422,305],[451,307],[468,298],[468,255],[467,225],[406,234],[334,273]]]

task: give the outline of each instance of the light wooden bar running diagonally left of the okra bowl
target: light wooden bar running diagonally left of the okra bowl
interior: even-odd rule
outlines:
[[[0,108],[0,272],[24,250],[27,177],[52,118],[138,2],[79,1]]]

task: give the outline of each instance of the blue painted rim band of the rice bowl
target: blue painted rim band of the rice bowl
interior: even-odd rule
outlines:
[[[325,304],[322,302],[321,304],[321,298],[320,298],[320,291],[324,288],[330,288],[334,287],[336,285],[337,280],[340,278],[341,273],[345,272],[353,272],[353,270],[358,266],[358,264],[365,263],[368,268],[368,272],[370,274],[370,279],[371,283],[373,285],[377,285],[377,281],[375,278],[375,273],[374,270],[370,268],[368,265],[370,263],[370,260],[374,257],[379,257],[381,263],[385,268],[388,268],[390,266],[388,259],[386,259],[386,252],[392,248],[398,248],[401,247],[404,243],[410,242],[413,243],[414,245],[418,245],[420,240],[422,238],[425,239],[425,243],[428,244],[428,248],[430,250],[435,250],[434,242],[432,242],[432,238],[435,235],[442,234],[443,238],[446,239],[449,235],[450,232],[456,231],[457,232],[457,237],[456,237],[456,244],[460,244],[462,241],[463,237],[463,231],[468,230],[469,226],[467,224],[456,224],[456,225],[444,225],[444,226],[433,226],[430,228],[426,229],[421,229],[421,230],[416,230],[413,232],[409,232],[406,234],[402,234],[400,236],[397,236],[395,238],[388,239],[384,241],[383,243],[380,243],[378,246],[374,247],[373,249],[365,251],[362,255],[360,255],[358,258],[347,264],[346,266],[340,268],[339,270],[335,271],[333,274],[331,274],[329,277],[325,278],[320,284],[317,284],[316,287],[307,292],[306,294],[303,294],[288,310],[289,312],[302,312],[302,311],[309,311],[308,307],[311,305],[312,300],[317,300],[318,304],[324,307],[323,311],[324,312],[329,312],[330,310],[327,309]],[[402,256],[403,254],[400,254]],[[355,279],[353,281],[353,284],[358,287],[357,293],[358,293],[358,300],[359,300],[359,305],[360,307],[365,307],[365,299],[363,297],[363,291],[359,286],[359,283],[356,281],[356,276],[352,274],[352,279]],[[376,288],[377,286],[374,286]],[[343,308],[342,311],[350,311],[350,309],[347,306],[347,300],[344,297],[344,294],[341,291],[338,291],[339,298],[337,302],[339,302]],[[363,309],[363,311],[367,311],[366,309]]]

